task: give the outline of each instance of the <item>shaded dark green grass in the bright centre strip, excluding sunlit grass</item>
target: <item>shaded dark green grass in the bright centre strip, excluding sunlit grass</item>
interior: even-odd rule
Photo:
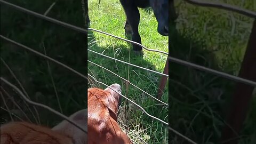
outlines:
[[[95,39],[92,31],[89,31],[89,49],[96,51],[98,53],[102,53],[105,55],[108,55],[109,57],[116,58],[122,61],[129,62],[129,53],[130,53],[130,47],[127,48],[127,46],[122,44],[111,44],[106,46],[100,46],[98,45],[98,41],[100,39]],[[117,40],[118,41],[118,40]],[[150,71],[146,71],[137,67],[130,66],[130,69],[128,65],[115,61],[113,59],[105,58],[101,55],[95,54],[93,52],[88,51],[88,60],[97,63],[100,66],[103,66],[111,71],[113,71],[115,74],[128,79],[129,74],[129,81],[133,83],[134,85],[137,85],[140,87],[140,89],[148,92],[149,94],[156,97],[156,93],[158,90],[158,84],[161,76],[158,74],[152,73]],[[156,70],[155,66],[151,63],[145,61],[142,57],[138,57],[137,55],[134,55],[133,51],[131,50],[131,59],[130,63],[145,67],[151,70]],[[157,101],[150,98],[149,95],[143,93],[142,91],[138,90],[137,88],[133,87],[132,85],[129,85],[129,89],[126,89],[126,82],[123,81],[118,76],[109,73],[107,70],[104,70],[98,66],[93,65],[92,63],[88,63],[88,73],[92,76],[94,76],[98,81],[103,82],[107,85],[111,85],[113,83],[118,83],[122,86],[122,94],[126,95],[126,90],[129,91],[129,93],[126,95],[127,98],[130,98],[132,101],[136,102],[138,105],[140,105],[142,108],[145,108],[146,111],[148,111],[149,114],[154,115],[160,119],[166,119],[167,115],[167,108],[162,108],[162,106],[156,105]],[[102,89],[105,89],[106,86],[104,85],[98,85],[95,83],[92,83],[91,86],[97,86],[101,87]],[[167,87],[166,87],[167,88]],[[122,98],[124,101],[124,98]],[[165,94],[163,96],[163,101],[167,102],[167,91],[165,89]],[[122,106],[124,103],[122,104]],[[161,108],[159,108],[161,107]],[[150,131],[163,131],[162,129],[165,129],[165,126],[162,126],[161,122],[153,121],[152,118],[148,117],[146,114],[142,113],[142,110],[135,107],[131,102],[127,102],[127,117],[125,119],[128,119],[129,125],[140,125],[147,126],[151,125]],[[142,116],[141,116],[142,115]],[[125,119],[122,119],[125,121]],[[167,120],[167,119],[166,119]],[[167,121],[166,121],[167,122]],[[132,127],[131,127],[132,128]],[[144,128],[145,129],[145,128]],[[148,133],[149,134],[149,133]],[[150,142],[153,143],[162,143],[161,137],[167,137],[167,135],[161,135],[160,132],[158,133],[151,133],[150,136]],[[166,139],[166,138],[165,138]]]

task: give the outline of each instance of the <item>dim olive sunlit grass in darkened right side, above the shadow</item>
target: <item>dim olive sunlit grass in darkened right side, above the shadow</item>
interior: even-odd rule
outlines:
[[[255,2],[252,0],[220,2],[256,10]],[[189,30],[189,34],[194,39],[203,39],[207,44],[203,49],[211,50],[217,55],[219,67],[227,73],[236,75],[251,33],[253,19],[241,14],[194,6],[181,1],[177,1],[176,4],[179,11],[178,29],[182,29],[183,33]]]

